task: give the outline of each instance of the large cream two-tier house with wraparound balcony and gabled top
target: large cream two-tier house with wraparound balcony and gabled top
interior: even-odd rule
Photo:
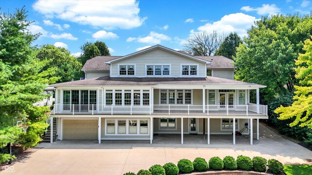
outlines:
[[[253,121],[259,139],[259,119],[268,119],[267,106],[259,104],[259,88],[266,86],[235,81],[232,62],[161,45],[92,58],[82,68],[84,80],[51,85],[56,88],[51,118],[57,119],[58,139],[152,143],[158,133],[181,134],[183,144],[184,134],[205,132],[210,144],[211,134],[231,135],[247,125],[250,130],[242,134],[250,134],[253,144]]]

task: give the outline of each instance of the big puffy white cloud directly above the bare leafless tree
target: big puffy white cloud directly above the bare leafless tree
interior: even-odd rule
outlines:
[[[198,31],[207,31],[213,32],[218,31],[218,33],[230,33],[237,32],[240,36],[247,35],[247,29],[249,29],[254,21],[258,20],[253,16],[249,16],[243,13],[236,13],[225,15],[220,20],[213,23],[206,23],[203,26],[198,27]],[[194,30],[191,30],[190,33],[195,33]]]

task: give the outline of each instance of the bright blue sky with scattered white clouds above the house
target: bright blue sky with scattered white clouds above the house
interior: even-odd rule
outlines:
[[[310,0],[0,0],[2,12],[25,5],[34,43],[65,47],[74,55],[86,41],[101,40],[112,55],[161,44],[183,50],[201,31],[245,36],[254,20],[273,14],[310,14]]]

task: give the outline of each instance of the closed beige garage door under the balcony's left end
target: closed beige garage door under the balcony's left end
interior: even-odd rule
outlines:
[[[98,140],[98,119],[63,119],[63,140]]]

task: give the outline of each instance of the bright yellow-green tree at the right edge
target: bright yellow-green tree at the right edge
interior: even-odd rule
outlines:
[[[297,68],[296,78],[299,79],[299,85],[294,88],[296,91],[293,96],[294,102],[291,106],[280,106],[275,112],[279,113],[280,120],[287,120],[295,117],[290,126],[300,123],[300,126],[309,126],[312,128],[312,41],[307,39],[303,50],[306,53],[299,53],[295,61]]]

